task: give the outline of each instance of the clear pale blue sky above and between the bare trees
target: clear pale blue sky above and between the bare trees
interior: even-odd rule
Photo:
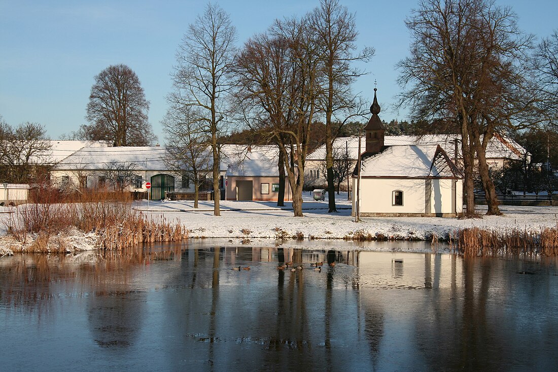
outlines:
[[[393,103],[400,90],[396,64],[408,55],[405,19],[419,0],[341,0],[355,14],[360,48],[376,54],[359,67],[368,74],[355,92],[373,98],[378,82],[380,117],[405,120]],[[318,0],[222,0],[238,31],[238,46],[264,32],[276,18],[301,16]],[[558,29],[556,0],[498,0],[511,6],[519,27],[537,37]],[[149,120],[164,144],[161,123],[172,90],[170,73],[182,36],[204,11],[203,1],[0,0],[0,115],[12,126],[37,122],[51,139],[86,123],[94,77],[109,65],[126,64],[140,78],[150,101]]]

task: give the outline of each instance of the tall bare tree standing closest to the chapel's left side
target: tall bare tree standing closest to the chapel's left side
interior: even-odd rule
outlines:
[[[362,102],[351,87],[354,80],[363,75],[363,71],[352,68],[351,64],[354,61],[368,61],[374,55],[374,49],[367,47],[361,53],[353,54],[357,49],[354,43],[358,37],[355,16],[338,0],[320,0],[320,6],[310,13],[307,20],[320,53],[321,96],[318,102],[320,111],[325,115],[324,174],[328,180],[328,212],[336,212],[333,141],[341,126],[334,125],[334,122],[345,122],[362,112]]]

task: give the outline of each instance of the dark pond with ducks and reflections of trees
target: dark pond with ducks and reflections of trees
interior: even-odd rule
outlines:
[[[277,268],[291,260],[294,271]],[[190,242],[128,254],[3,257],[0,365],[555,370],[557,268],[554,258],[464,260],[343,242],[331,250]]]

